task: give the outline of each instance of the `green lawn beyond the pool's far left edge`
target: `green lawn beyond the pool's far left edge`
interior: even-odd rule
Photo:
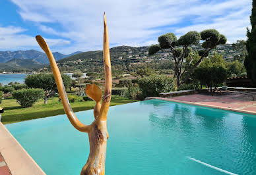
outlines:
[[[121,105],[125,103],[135,102],[136,100],[127,99],[118,95],[112,95],[111,106]],[[74,112],[85,111],[93,109],[96,103],[94,101],[75,101],[71,103]],[[24,120],[32,120],[47,116],[55,116],[58,114],[65,114],[62,103],[58,101],[58,97],[53,97],[48,100],[48,104],[44,104],[43,100],[36,102],[33,107],[22,108],[15,99],[5,99],[2,101],[0,107],[5,109],[2,114],[3,124],[10,124],[14,122],[21,122]],[[93,117],[93,112],[92,112]]]

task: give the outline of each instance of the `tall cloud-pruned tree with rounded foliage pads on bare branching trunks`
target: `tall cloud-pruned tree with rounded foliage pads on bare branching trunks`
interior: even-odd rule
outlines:
[[[204,41],[202,44],[204,49],[199,51],[200,59],[195,64],[188,65],[182,70],[185,58],[192,52],[189,45],[198,44],[200,40]],[[219,34],[215,29],[209,29],[202,31],[201,33],[196,31],[187,32],[187,34],[179,37],[179,39],[172,33],[164,34],[158,37],[158,43],[158,46],[152,45],[148,48],[148,54],[153,55],[160,49],[170,49],[175,62],[174,77],[177,79],[177,87],[179,88],[180,84],[186,82],[193,70],[199,66],[205,57],[208,56],[210,50],[214,49],[219,44],[226,43],[226,37]],[[191,63],[192,62],[193,61],[191,61]],[[181,77],[184,73],[186,73],[186,76],[184,77],[183,82],[181,82]]]

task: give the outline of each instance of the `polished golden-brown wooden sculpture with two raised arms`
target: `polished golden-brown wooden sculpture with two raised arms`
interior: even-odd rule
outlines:
[[[103,59],[105,70],[105,89],[104,96],[102,97],[102,89],[95,84],[86,86],[86,94],[96,101],[94,107],[94,122],[90,125],[82,124],[75,113],[73,112],[63,81],[61,79],[61,73],[55,62],[55,59],[43,37],[36,36],[36,41],[48,56],[51,64],[51,70],[53,72],[55,82],[61,97],[64,110],[69,118],[71,124],[77,128],[80,132],[87,132],[90,141],[90,154],[88,160],[80,174],[105,174],[105,161],[106,161],[106,147],[108,139],[107,131],[107,114],[110,107],[111,91],[112,91],[112,72],[110,64],[110,47],[108,42],[108,27],[106,24],[106,15],[104,13],[104,41],[103,41]],[[100,101],[102,99],[102,104]]]

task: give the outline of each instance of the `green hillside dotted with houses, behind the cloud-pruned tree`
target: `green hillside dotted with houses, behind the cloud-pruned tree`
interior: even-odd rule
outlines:
[[[192,45],[192,49],[203,49],[201,45]],[[226,61],[233,61],[234,55],[239,55],[236,51],[232,50],[232,45],[219,45],[216,49],[218,53],[224,55]],[[213,52],[213,51],[212,51]],[[172,54],[166,51],[159,51],[155,55],[148,55],[148,47],[130,47],[118,46],[110,49],[110,57],[112,65],[128,65],[140,64],[152,61],[164,61],[172,59]],[[75,68],[90,68],[92,66],[102,66],[102,51],[87,51],[66,57],[57,61],[59,66],[75,67]]]

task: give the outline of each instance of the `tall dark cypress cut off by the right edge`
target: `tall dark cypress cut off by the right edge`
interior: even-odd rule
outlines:
[[[248,55],[245,57],[244,65],[247,72],[247,77],[256,86],[256,0],[253,0],[253,9],[251,10],[251,32],[247,28],[246,49]]]

